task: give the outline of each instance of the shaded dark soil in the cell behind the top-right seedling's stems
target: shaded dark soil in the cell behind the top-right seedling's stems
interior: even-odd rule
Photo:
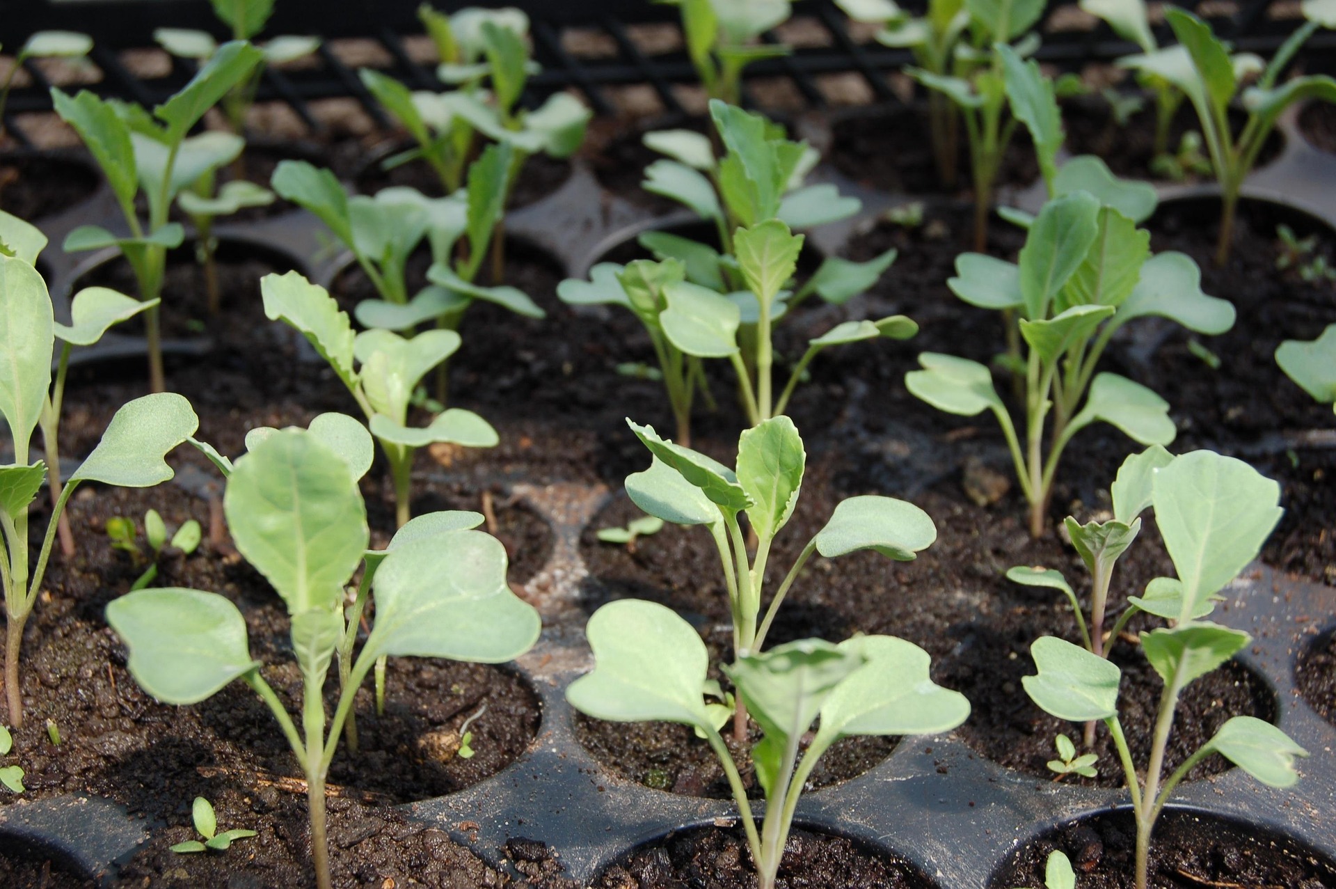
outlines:
[[[1246,115],[1240,110],[1230,110],[1229,126],[1233,132],[1241,132]],[[1160,179],[1150,171],[1150,162],[1156,156],[1156,104],[1150,96],[1145,98],[1141,111],[1133,114],[1128,123],[1118,126],[1113,116],[1113,110],[1102,96],[1083,96],[1065,102],[1062,104],[1062,123],[1066,127],[1067,151],[1073,155],[1098,155],[1116,175],[1134,179]],[[1201,135],[1201,123],[1192,104],[1185,102],[1169,124],[1168,151],[1174,154],[1182,142],[1185,132]],[[1285,138],[1272,131],[1263,143],[1257,154],[1256,170],[1267,166],[1285,147]],[[1208,156],[1205,142],[1200,148],[1202,156]],[[1188,174],[1185,182],[1198,182],[1202,176]],[[1213,182],[1210,175],[1205,180]]]

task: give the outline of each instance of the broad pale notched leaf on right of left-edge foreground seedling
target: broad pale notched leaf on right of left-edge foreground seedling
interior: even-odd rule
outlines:
[[[198,428],[190,402],[172,392],[127,401],[69,481],[151,488],[175,475],[164,457]]]

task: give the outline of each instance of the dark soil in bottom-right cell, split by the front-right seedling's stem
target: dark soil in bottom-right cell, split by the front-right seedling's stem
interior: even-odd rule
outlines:
[[[1136,823],[1118,811],[1078,821],[1013,853],[991,889],[1042,886],[1049,853],[1071,861],[1081,889],[1132,889]],[[1169,809],[1150,840],[1152,889],[1201,886],[1336,888],[1336,865],[1301,845],[1241,825]]]

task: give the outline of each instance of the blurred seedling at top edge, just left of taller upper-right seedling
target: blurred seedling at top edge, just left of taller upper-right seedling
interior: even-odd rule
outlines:
[[[855,21],[880,24],[878,43],[906,48],[914,64],[935,78],[963,78],[977,64],[973,53],[957,52],[962,37],[969,40],[971,13],[962,0],[929,0],[927,12],[914,17],[892,0],[835,0]],[[961,111],[946,92],[930,90],[927,96],[929,135],[942,186],[955,188],[961,151]]]

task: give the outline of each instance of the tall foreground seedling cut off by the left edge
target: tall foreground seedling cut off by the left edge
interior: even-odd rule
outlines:
[[[12,235],[5,237],[7,251],[13,253],[16,243]],[[52,505],[37,559],[31,561],[28,507],[48,479],[47,463],[29,461],[32,433],[41,425],[44,412],[59,414],[59,409],[51,406],[51,356],[59,325],[52,317],[47,285],[31,265],[35,257],[31,243],[21,255],[0,255],[0,303],[5,306],[5,311],[0,313],[0,414],[13,438],[15,460],[0,467],[0,532],[5,544],[0,552],[0,580],[7,618],[4,687],[9,722],[16,727],[23,727],[23,691],[19,686],[23,628],[37,603],[56,528],[71,495],[83,481],[124,488],[150,488],[167,481],[174,473],[163,457],[199,425],[190,402],[178,394],[146,396],[122,406],[102,441],[61,488]],[[60,368],[63,373],[64,362]],[[60,384],[63,380],[57,380],[57,386]],[[53,441],[55,436],[51,436],[48,451],[53,448]],[[51,477],[55,475],[49,473]]]

